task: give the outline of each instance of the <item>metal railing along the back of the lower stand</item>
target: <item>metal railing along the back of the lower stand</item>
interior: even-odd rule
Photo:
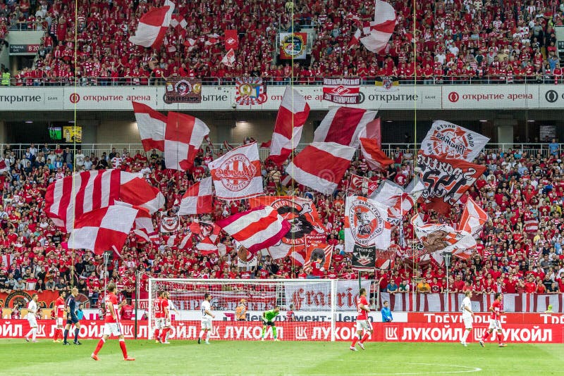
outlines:
[[[261,140],[262,141],[262,140]],[[39,151],[41,151],[42,147],[44,146],[44,144],[35,144],[35,148],[38,149]],[[260,142],[259,142],[260,144]],[[24,156],[25,151],[28,147],[30,147],[30,144],[0,144],[0,150],[2,151],[2,153],[4,154],[4,151],[6,151],[7,146],[10,146],[10,150],[14,151],[14,153],[16,154],[16,158],[21,158],[22,156]],[[54,143],[49,143],[48,146],[51,150],[54,150],[56,148],[56,145],[59,145],[61,147],[61,149],[66,149],[67,147],[69,149],[73,149],[75,147],[75,144],[54,144]],[[218,151],[219,149],[223,149],[223,151],[225,150],[225,146],[223,146],[223,144],[213,144],[214,151]],[[237,143],[233,143],[231,144],[231,146],[240,146],[241,144],[237,144]],[[302,150],[303,148],[305,148],[305,146],[307,146],[308,144],[298,144],[296,146],[296,149],[298,151]],[[564,144],[558,144],[559,145],[559,150],[562,151]],[[202,148],[205,148],[207,145],[206,144],[202,144]],[[407,150],[413,150],[413,144],[405,144],[405,143],[390,143],[390,144],[382,144],[382,150],[388,155],[393,157],[393,154],[396,153],[396,148],[400,148],[400,151],[405,153]],[[419,149],[421,145],[417,144],[417,149]],[[123,153],[123,149],[126,149],[129,153],[130,156],[135,156],[135,153],[137,152],[137,150],[139,150],[141,153],[143,153],[143,146],[142,144],[76,144],[76,148],[77,149],[82,149],[82,153],[85,156],[90,156],[91,153],[94,153],[94,156],[96,156],[97,158],[100,158],[102,156],[102,153],[106,153],[108,154],[111,149],[116,148],[116,151]],[[500,152],[505,152],[505,151],[521,151],[521,153],[527,153],[528,156],[537,156],[540,155],[542,158],[546,158],[548,156],[549,153],[549,149],[548,149],[548,143],[510,143],[510,144],[487,144],[486,148],[484,148],[484,153],[500,153]],[[266,148],[260,148],[259,149],[259,156],[262,159],[265,159],[266,157],[269,156],[269,152],[270,149],[266,149]],[[149,153],[149,152],[147,152]]]

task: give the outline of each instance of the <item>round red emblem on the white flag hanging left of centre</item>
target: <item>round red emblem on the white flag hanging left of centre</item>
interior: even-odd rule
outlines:
[[[231,192],[238,192],[249,186],[257,168],[245,154],[235,154],[226,159],[215,171],[216,178]]]

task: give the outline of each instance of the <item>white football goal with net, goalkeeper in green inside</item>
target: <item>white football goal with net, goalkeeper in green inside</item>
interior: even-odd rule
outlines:
[[[370,282],[362,287],[369,292]],[[149,338],[154,332],[157,294],[166,291],[176,311],[171,312],[171,338],[197,339],[200,305],[212,295],[212,339],[257,340],[262,337],[262,313],[275,306],[278,339],[286,341],[336,340],[336,322],[356,315],[358,281],[344,280],[190,280],[149,279]],[[244,300],[243,300],[244,299]],[[245,304],[244,314],[238,310]],[[346,320],[348,321],[348,320]],[[348,322],[348,326],[351,322]],[[338,334],[338,333],[337,333]],[[268,327],[264,339],[273,339]]]

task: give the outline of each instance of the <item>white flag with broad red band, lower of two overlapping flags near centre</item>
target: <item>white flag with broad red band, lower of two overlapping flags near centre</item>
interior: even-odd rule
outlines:
[[[312,142],[290,161],[286,172],[299,184],[331,194],[343,179],[354,154],[354,147]]]

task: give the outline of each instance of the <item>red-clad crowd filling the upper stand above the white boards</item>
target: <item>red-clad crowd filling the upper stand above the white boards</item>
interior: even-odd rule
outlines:
[[[362,44],[348,47],[357,27],[374,18],[374,4],[357,0],[179,0],[175,15],[187,25],[171,26],[159,50],[129,42],[140,15],[162,3],[78,1],[75,22],[74,1],[0,1],[0,39],[12,27],[46,30],[34,66],[20,70],[12,84],[70,84],[74,77],[83,85],[143,85],[167,77],[229,84],[245,76],[269,84],[341,76],[367,83],[377,77],[405,83],[417,77],[423,84],[558,83],[563,75],[553,28],[563,25],[561,0],[419,1],[415,12],[415,3],[392,0],[396,30],[379,54]],[[238,30],[240,39],[232,67],[221,63],[226,29]],[[276,60],[277,33],[305,29],[315,35],[307,60],[294,67]]]

